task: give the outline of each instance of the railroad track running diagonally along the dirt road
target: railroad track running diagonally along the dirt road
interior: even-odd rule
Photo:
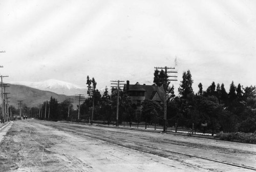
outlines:
[[[57,128],[59,130],[62,130],[62,131],[76,133],[76,134],[81,135],[81,136],[86,136],[86,137],[89,137],[89,138],[105,141],[105,142],[113,144],[113,145],[132,148],[132,149],[139,150],[139,151],[142,151],[142,152],[145,152],[145,153],[152,152],[152,151],[148,152],[148,151],[144,150],[144,148],[146,147],[146,148],[153,149],[156,152],[164,150],[164,152],[166,152],[166,153],[178,154],[178,155],[183,155],[183,156],[188,156],[188,157],[194,157],[194,158],[199,158],[199,159],[203,159],[203,160],[208,160],[208,161],[211,161],[211,162],[217,162],[217,163],[221,163],[221,164],[225,164],[225,165],[230,165],[230,166],[234,166],[234,167],[240,167],[240,168],[250,169],[250,170],[255,170],[256,171],[256,168],[250,167],[250,166],[232,164],[232,163],[229,163],[229,162],[218,161],[218,160],[210,159],[210,158],[206,158],[206,157],[201,157],[201,156],[176,152],[176,151],[173,151],[173,150],[159,148],[159,147],[150,146],[150,145],[145,145],[145,144],[141,144],[141,143],[138,143],[138,142],[131,142],[131,141],[125,140],[125,139],[120,140],[120,138],[119,138],[119,140],[117,140],[117,139],[113,140],[113,137],[102,136],[102,134],[101,135],[100,134],[95,134],[95,133],[92,134],[92,133],[89,132],[90,129],[87,129],[87,128],[83,128],[82,131],[79,131],[79,130],[81,130],[81,128],[77,128],[77,130],[75,130],[76,128],[74,129],[73,127],[76,127],[76,126],[74,126],[74,125],[66,125],[66,126],[59,125],[59,126],[56,126],[56,125],[52,125],[52,124],[49,124],[49,123],[47,123],[47,125],[55,127],[55,128]],[[94,128],[94,129],[99,130],[97,128]],[[125,143],[127,143],[127,144],[125,144]],[[161,155],[158,155],[158,156],[161,156]],[[166,158],[165,156],[161,156],[161,157]],[[188,165],[188,166],[193,166],[193,167],[199,168],[198,166],[190,165],[190,164],[187,164],[187,163],[183,163],[183,162],[180,162],[180,163]]]

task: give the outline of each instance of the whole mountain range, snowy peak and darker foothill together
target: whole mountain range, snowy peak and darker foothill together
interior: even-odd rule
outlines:
[[[10,93],[8,94],[8,97],[10,97],[9,105],[14,105],[15,107],[17,107],[17,100],[24,100],[23,103],[28,107],[36,107],[46,100],[49,101],[51,96],[56,98],[58,102],[65,101],[66,98],[73,98],[73,105],[75,107],[78,104],[78,100],[75,100],[76,94],[88,96],[87,88],[54,79],[41,82],[11,82],[8,85],[9,87],[6,88],[6,92]],[[98,90],[103,94],[105,88]]]

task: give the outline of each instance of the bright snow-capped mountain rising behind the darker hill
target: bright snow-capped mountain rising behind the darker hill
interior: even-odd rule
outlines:
[[[21,84],[25,85],[27,87],[44,90],[44,91],[51,91],[57,94],[65,94],[65,95],[75,95],[75,94],[87,94],[87,88],[80,87],[78,85],[55,80],[55,79],[49,79],[46,81],[40,81],[40,82],[26,82],[26,81],[20,81],[20,82],[12,82],[13,84]]]

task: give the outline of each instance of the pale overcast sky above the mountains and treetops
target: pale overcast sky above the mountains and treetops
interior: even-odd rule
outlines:
[[[86,87],[152,84],[154,67],[212,81],[256,84],[256,1],[0,0],[5,82],[57,79]],[[176,59],[176,62],[175,62]]]

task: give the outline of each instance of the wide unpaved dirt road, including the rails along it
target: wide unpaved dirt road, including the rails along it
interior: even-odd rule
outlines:
[[[255,144],[36,119],[8,129],[0,171],[256,170]]]

